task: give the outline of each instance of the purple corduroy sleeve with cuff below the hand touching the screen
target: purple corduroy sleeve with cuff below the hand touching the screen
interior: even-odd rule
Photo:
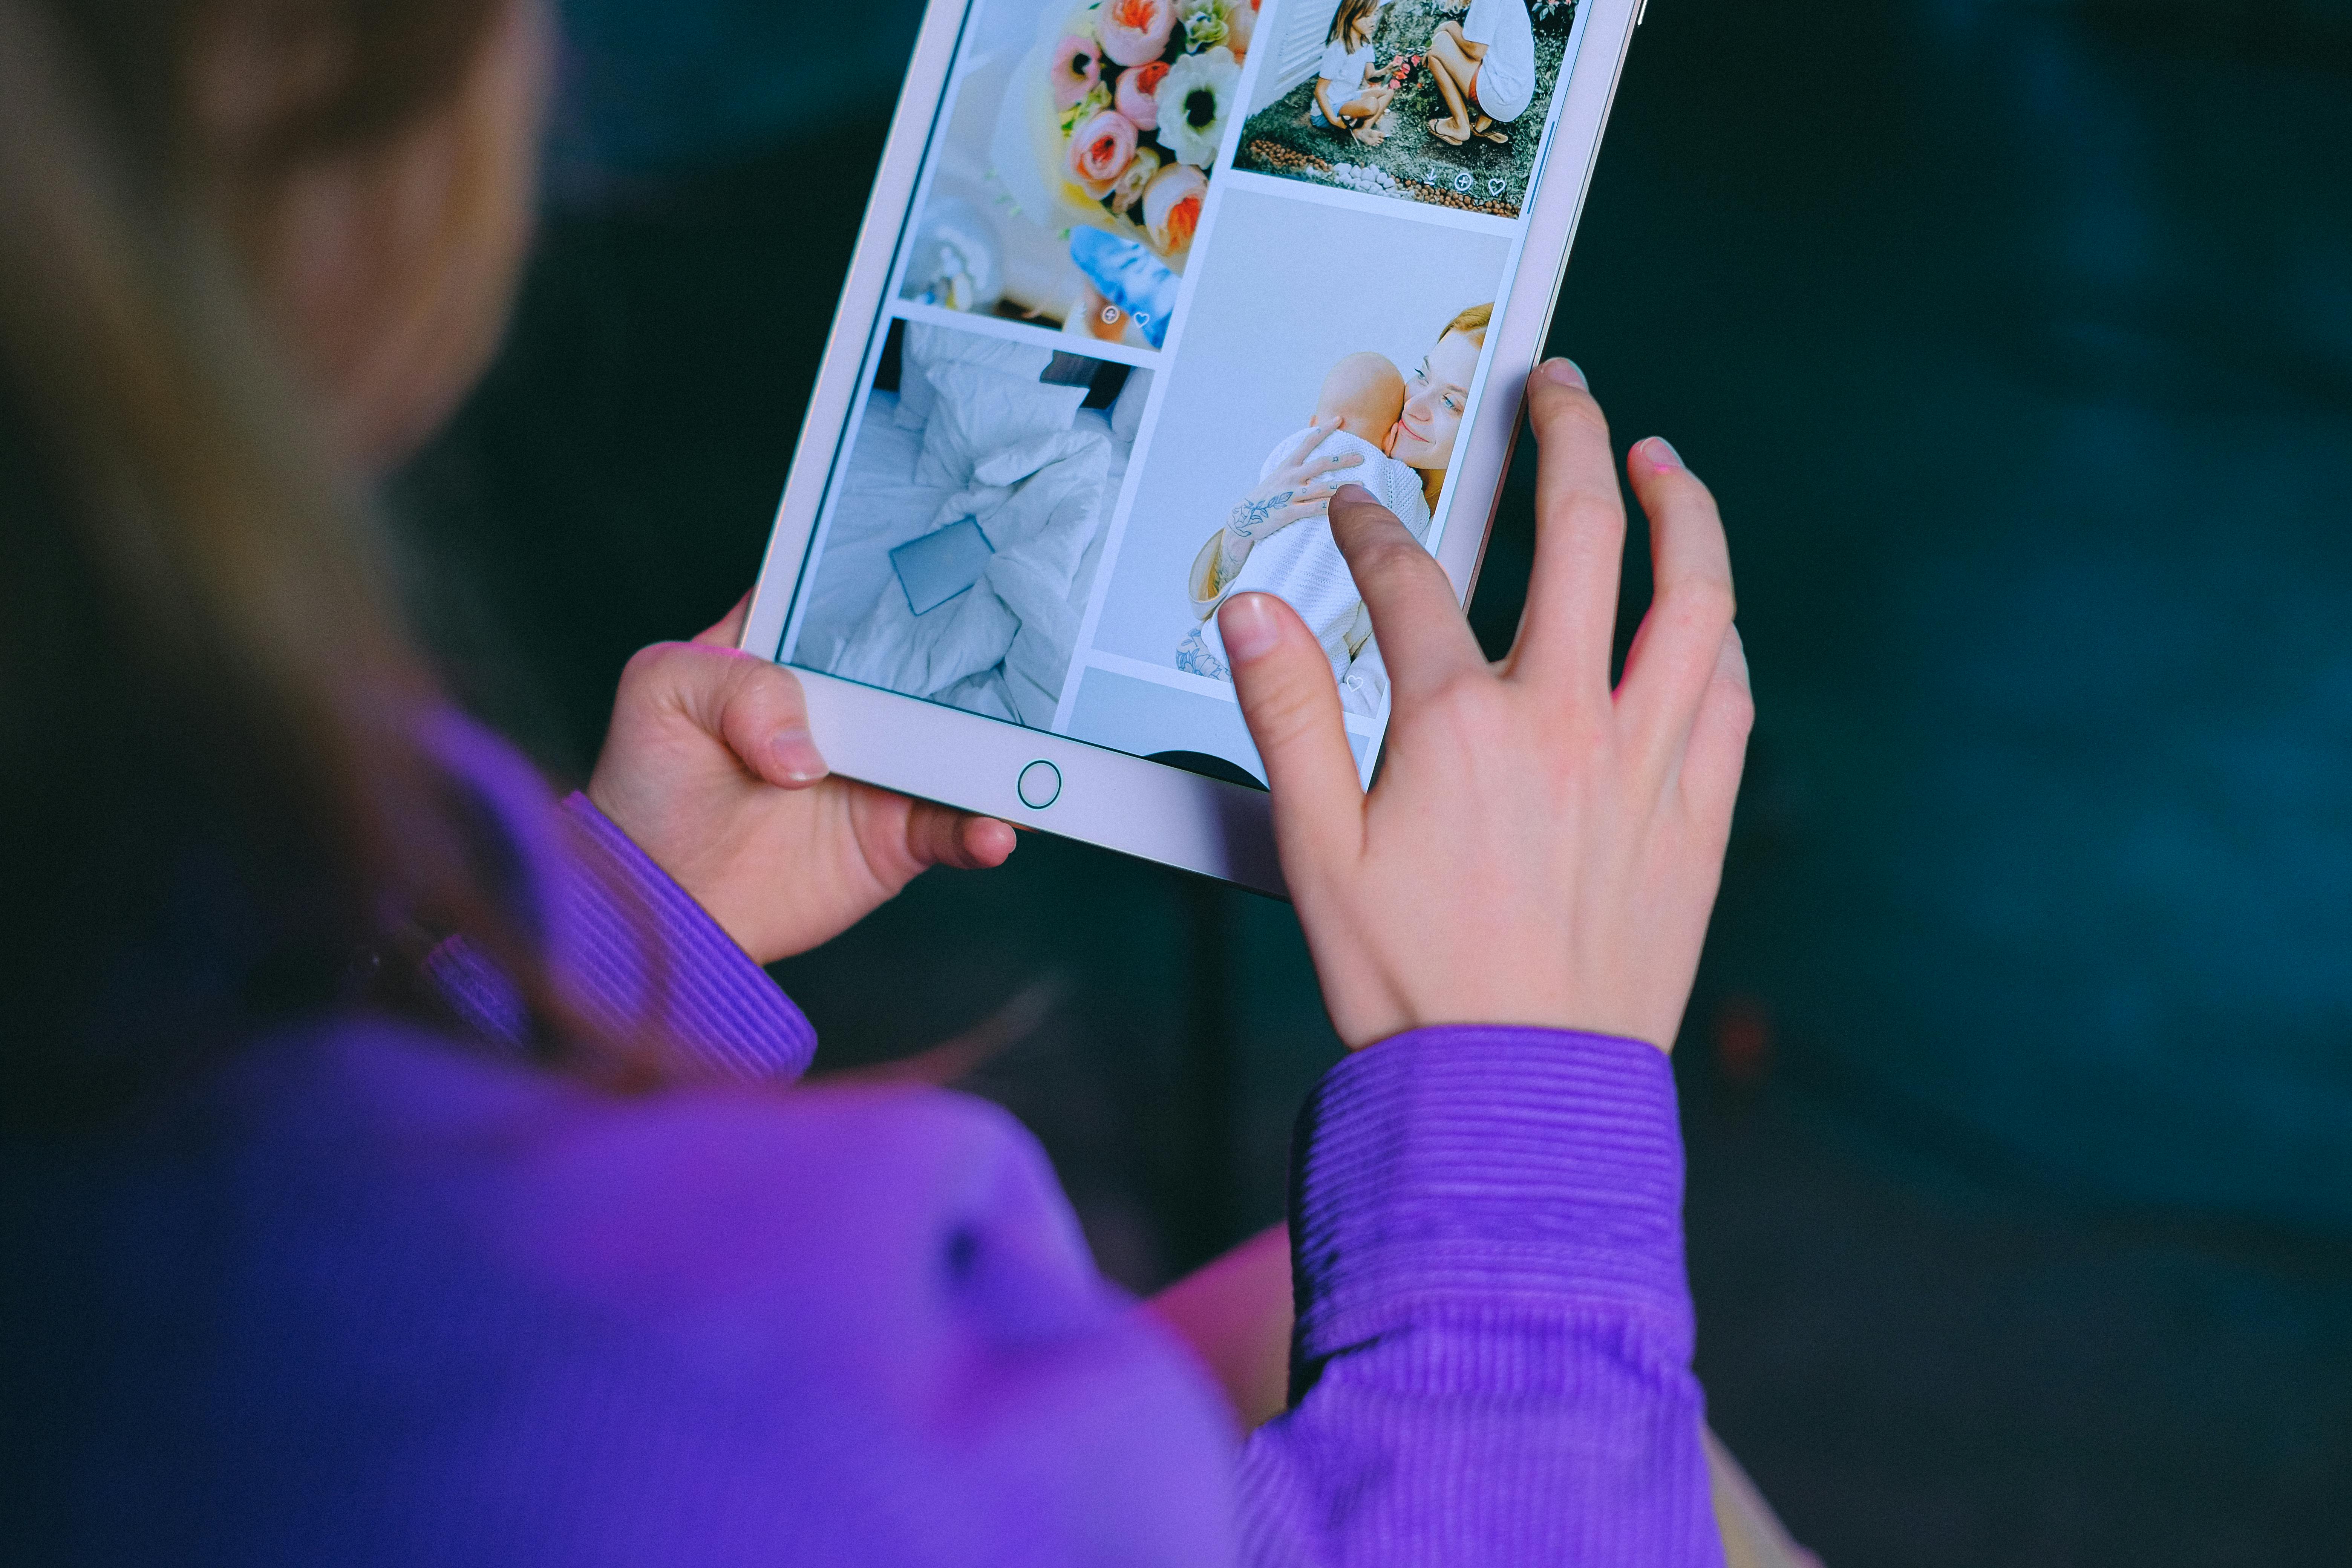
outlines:
[[[1722,1563],[1653,1046],[1416,1030],[1324,1077],[1291,1201],[1291,1410],[1249,1563]]]

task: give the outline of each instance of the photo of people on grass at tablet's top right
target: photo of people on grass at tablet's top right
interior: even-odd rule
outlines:
[[[1519,216],[1576,0],[1291,0],[1235,169]]]

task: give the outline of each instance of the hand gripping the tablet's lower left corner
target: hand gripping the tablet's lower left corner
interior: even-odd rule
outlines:
[[[835,778],[800,682],[736,651],[746,604],[628,661],[588,799],[760,964],[807,952],[931,865],[988,867],[1014,830]]]

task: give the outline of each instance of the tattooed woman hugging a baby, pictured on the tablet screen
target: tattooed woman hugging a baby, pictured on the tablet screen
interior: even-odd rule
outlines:
[[[1185,597],[1195,625],[1176,644],[1178,670],[1230,682],[1216,609],[1235,592],[1270,592],[1322,642],[1348,712],[1378,712],[1388,672],[1331,538],[1331,496],[1362,484],[1428,543],[1491,315],[1491,303],[1456,313],[1411,376],[1376,353],[1331,367],[1310,423],[1275,442],[1258,484],[1192,559]]]

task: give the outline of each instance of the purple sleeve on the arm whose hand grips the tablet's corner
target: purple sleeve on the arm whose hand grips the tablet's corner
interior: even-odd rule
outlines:
[[[501,813],[510,830],[517,816]],[[720,1079],[788,1084],[809,1067],[816,1032],[800,1009],[586,795],[572,795],[553,827],[522,851],[543,853],[539,917],[574,1006],[619,1034],[659,1018]],[[426,976],[477,1032],[522,1041],[520,992],[463,936],[433,950]]]

